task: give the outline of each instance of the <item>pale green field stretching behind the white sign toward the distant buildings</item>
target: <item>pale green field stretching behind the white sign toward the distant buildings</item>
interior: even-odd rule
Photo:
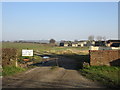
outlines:
[[[89,47],[59,47],[59,46],[51,46],[49,44],[34,44],[34,43],[12,43],[12,42],[4,42],[2,43],[2,48],[16,48],[19,53],[22,49],[33,49],[34,51],[43,53],[59,53],[63,51],[74,51],[79,52],[82,50],[88,50]]]

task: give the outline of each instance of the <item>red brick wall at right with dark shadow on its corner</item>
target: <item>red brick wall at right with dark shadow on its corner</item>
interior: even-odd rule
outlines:
[[[90,65],[120,66],[120,50],[90,50]]]

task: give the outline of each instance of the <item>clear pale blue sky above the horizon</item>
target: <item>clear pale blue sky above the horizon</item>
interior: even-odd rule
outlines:
[[[3,2],[3,40],[118,39],[117,2]]]

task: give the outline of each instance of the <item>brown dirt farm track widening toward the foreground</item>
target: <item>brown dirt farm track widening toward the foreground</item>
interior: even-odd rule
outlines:
[[[47,62],[26,72],[3,78],[3,88],[102,88],[98,82],[83,77],[75,70],[73,59],[61,57],[58,64],[61,67],[51,69],[49,65],[55,60]],[[72,64],[72,65],[71,65]]]

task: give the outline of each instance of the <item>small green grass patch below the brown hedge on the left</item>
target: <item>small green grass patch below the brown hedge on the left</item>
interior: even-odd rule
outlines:
[[[3,67],[2,75],[10,76],[10,75],[14,75],[14,74],[17,74],[17,73],[25,71],[25,70],[27,70],[27,69],[21,68],[21,67],[15,67],[15,66],[5,66],[5,67]]]

